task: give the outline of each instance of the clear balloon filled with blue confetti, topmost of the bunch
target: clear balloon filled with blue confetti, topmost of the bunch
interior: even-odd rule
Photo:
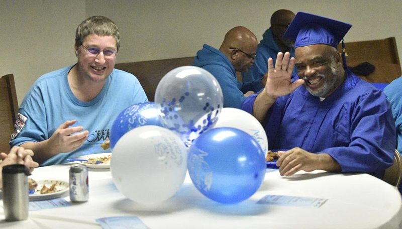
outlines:
[[[223,108],[222,88],[205,69],[178,67],[159,82],[155,105],[162,125],[189,146],[218,121]]]

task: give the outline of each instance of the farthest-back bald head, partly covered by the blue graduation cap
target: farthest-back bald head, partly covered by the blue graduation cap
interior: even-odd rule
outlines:
[[[294,13],[289,10],[278,10],[271,16],[272,35],[282,52],[288,52],[294,46],[293,41],[283,38],[283,34],[293,21],[294,16]]]

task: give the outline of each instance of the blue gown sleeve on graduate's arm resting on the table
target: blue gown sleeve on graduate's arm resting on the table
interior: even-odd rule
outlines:
[[[377,90],[360,96],[355,106],[344,106],[342,109],[351,116],[352,121],[350,127],[344,127],[351,132],[349,145],[318,153],[331,155],[341,166],[342,172],[383,174],[393,163],[396,142],[390,103],[385,95]],[[342,125],[342,121],[339,122]]]

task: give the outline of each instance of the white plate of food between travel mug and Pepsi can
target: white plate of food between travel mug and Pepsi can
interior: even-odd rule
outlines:
[[[54,198],[62,196],[64,193],[68,192],[68,190],[69,190],[69,184],[68,184],[68,182],[65,182],[65,181],[60,181],[60,180],[39,180],[38,181],[38,180],[36,180],[36,183],[38,184],[38,186],[35,189],[35,193],[29,195],[29,200],[54,199]],[[43,185],[46,185],[46,187],[50,188],[50,186],[52,186],[52,184],[56,184],[55,192],[41,194],[41,189],[42,189]]]

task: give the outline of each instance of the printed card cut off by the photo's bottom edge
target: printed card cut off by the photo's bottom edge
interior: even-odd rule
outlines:
[[[103,229],[150,229],[145,225],[137,216],[116,216],[98,218],[96,222],[102,226]]]

